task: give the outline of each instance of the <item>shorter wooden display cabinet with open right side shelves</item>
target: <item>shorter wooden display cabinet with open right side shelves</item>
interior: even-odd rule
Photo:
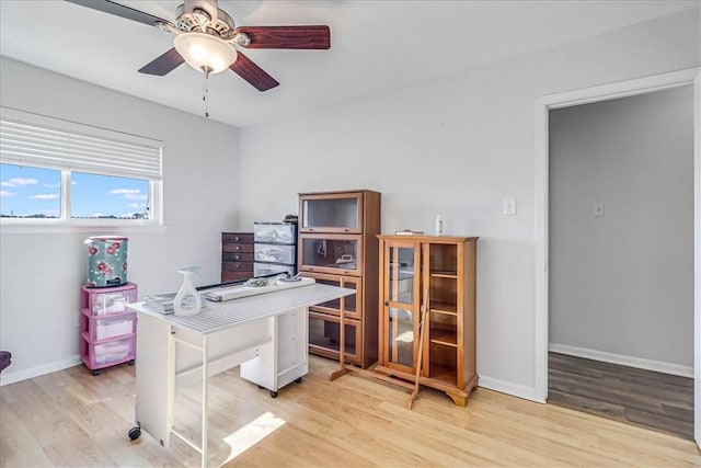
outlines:
[[[414,381],[421,307],[427,323],[422,385],[466,406],[478,385],[475,272],[478,238],[378,236],[380,239],[379,364],[376,370]]]

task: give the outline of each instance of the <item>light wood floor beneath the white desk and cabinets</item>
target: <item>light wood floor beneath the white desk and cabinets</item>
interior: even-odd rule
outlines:
[[[138,365],[138,363],[137,363]],[[310,357],[310,375],[265,390],[217,375],[210,385],[210,466],[228,467],[559,467],[701,466],[696,444],[553,404],[478,388],[467,408],[424,389],[412,410],[397,386]],[[147,433],[129,442],[135,370],[82,366],[0,387],[2,467],[182,467],[199,456],[176,437],[170,449]],[[179,397],[176,425],[197,427],[198,395]]]

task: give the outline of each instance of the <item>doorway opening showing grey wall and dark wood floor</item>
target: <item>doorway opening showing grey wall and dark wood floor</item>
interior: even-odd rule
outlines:
[[[549,113],[548,402],[687,440],[692,102],[685,85]]]

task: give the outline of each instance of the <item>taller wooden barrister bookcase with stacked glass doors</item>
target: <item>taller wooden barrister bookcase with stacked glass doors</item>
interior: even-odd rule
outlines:
[[[340,358],[340,317],[348,363],[367,368],[378,352],[380,194],[368,190],[299,194],[298,270],[354,296],[309,308],[309,351]]]

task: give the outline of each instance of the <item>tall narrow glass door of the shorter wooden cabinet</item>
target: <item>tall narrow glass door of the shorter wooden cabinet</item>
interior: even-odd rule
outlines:
[[[412,372],[418,350],[420,248],[414,243],[387,242],[383,251],[384,363]]]

